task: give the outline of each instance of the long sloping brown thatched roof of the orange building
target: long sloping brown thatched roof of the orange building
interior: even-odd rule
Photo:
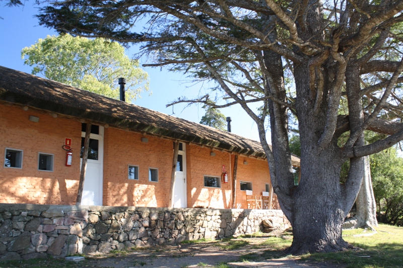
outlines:
[[[257,141],[2,66],[0,101],[265,158]]]

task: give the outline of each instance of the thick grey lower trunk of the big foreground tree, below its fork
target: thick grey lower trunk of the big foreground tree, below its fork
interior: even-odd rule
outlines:
[[[308,155],[301,162],[301,182],[294,196],[290,253],[340,251],[348,247],[342,238],[341,161],[331,148],[309,152],[305,148],[305,152]]]

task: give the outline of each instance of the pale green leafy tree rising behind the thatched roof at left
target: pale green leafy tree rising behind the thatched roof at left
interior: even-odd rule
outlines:
[[[34,66],[32,74],[70,84],[83,90],[119,99],[119,77],[126,79],[126,101],[149,90],[148,74],[137,60],[124,54],[117,42],[88,39],[69,34],[47,36],[21,51],[24,63]]]

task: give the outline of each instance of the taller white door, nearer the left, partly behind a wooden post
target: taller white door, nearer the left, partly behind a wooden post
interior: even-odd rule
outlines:
[[[104,128],[98,134],[91,133],[88,150],[87,170],[84,180],[82,205],[102,206]],[[82,132],[82,143],[85,132]],[[83,150],[83,146],[82,146]]]

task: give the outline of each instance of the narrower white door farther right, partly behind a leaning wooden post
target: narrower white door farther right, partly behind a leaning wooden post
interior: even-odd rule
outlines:
[[[186,208],[186,147],[180,143],[173,190],[173,207]]]

